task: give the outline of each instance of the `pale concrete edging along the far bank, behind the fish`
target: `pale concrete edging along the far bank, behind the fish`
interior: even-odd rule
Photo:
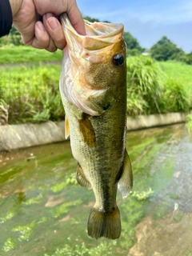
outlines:
[[[186,113],[151,114],[128,117],[127,130],[145,129],[186,122]],[[65,141],[65,122],[0,126],[0,151]]]

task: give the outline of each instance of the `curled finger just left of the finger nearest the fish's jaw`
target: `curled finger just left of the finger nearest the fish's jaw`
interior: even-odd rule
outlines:
[[[50,35],[46,32],[42,22],[36,22],[34,26],[34,38],[31,41],[31,46],[38,49],[46,49],[50,52],[57,50],[54,42],[51,40]]]

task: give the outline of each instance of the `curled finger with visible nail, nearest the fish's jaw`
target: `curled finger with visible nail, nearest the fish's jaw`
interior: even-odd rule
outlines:
[[[66,38],[61,23],[54,17],[54,14],[48,13],[43,16],[43,24],[48,34],[50,34],[54,45],[62,50],[66,46]]]

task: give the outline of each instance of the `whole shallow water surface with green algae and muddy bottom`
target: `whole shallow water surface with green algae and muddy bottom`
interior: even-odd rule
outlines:
[[[0,153],[0,255],[192,255],[192,138],[184,125],[127,134],[134,190],[122,235],[89,238],[93,191],[75,181],[69,142]]]

